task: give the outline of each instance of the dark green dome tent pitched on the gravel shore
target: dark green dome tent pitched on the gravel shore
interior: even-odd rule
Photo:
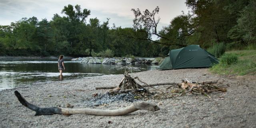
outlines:
[[[218,64],[217,58],[200,48],[199,45],[189,45],[184,48],[170,50],[168,55],[158,69],[199,68]]]

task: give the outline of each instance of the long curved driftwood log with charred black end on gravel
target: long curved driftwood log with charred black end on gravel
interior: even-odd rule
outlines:
[[[22,105],[36,112],[35,116],[53,115],[53,114],[63,114],[63,115],[90,114],[90,115],[96,115],[96,116],[122,116],[137,110],[148,110],[148,111],[154,112],[160,109],[157,105],[150,104],[147,102],[134,102],[130,106],[127,106],[125,108],[119,108],[116,110],[100,110],[100,109],[94,109],[94,108],[60,108],[60,107],[40,108],[38,106],[35,106],[27,102],[18,91],[14,91],[14,94]]]

